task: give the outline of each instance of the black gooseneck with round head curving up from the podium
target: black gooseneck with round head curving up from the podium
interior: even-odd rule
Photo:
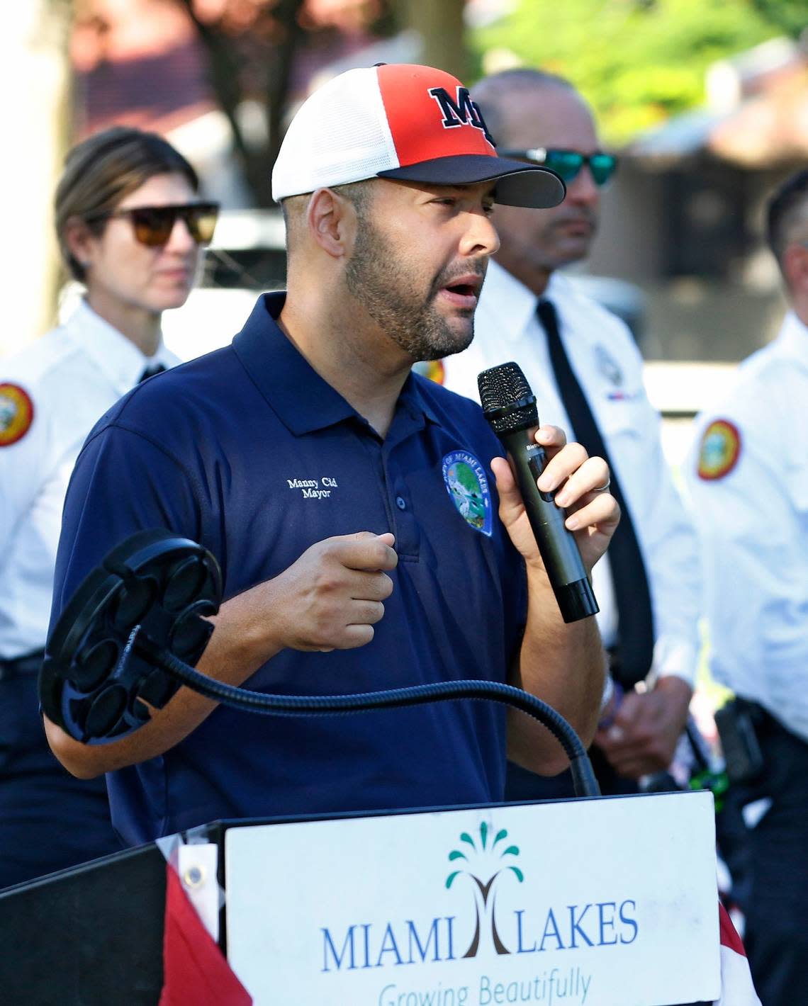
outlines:
[[[571,762],[576,795],[600,795],[586,748],[545,702],[497,681],[441,681],[352,695],[271,695],[193,670],[221,603],[221,572],[201,545],[141,531],[113,549],[64,607],[45,646],[39,700],[47,717],[85,744],[128,736],[184,684],[233,708],[275,716],[344,715],[483,699],[526,712]]]

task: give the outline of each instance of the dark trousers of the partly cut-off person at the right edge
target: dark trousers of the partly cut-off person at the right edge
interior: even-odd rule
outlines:
[[[763,1006],[808,1003],[808,743],[763,714],[756,727],[765,769],[735,786],[728,810],[772,805],[744,830],[734,893],[747,918],[744,945]],[[732,868],[732,864],[731,864]]]

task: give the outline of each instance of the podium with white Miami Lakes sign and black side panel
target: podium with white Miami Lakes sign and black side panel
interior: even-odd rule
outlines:
[[[681,793],[193,834],[259,1006],[689,1006],[719,994],[712,814]],[[164,905],[154,845],[0,892],[3,1000],[156,1006]]]

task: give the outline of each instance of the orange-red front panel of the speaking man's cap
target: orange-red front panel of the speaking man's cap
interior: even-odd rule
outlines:
[[[400,167],[420,164],[435,157],[456,157],[459,154],[484,154],[496,157],[496,151],[485,139],[482,129],[465,121],[451,128],[444,126],[438,102],[430,89],[444,88],[449,97],[458,101],[459,81],[451,73],[420,66],[389,64],[376,70],[381,102],[387,115],[395,153]],[[426,124],[431,123],[428,127]]]

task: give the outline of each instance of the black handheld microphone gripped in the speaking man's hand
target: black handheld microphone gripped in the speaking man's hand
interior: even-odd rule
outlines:
[[[578,549],[564,527],[565,512],[552,493],[541,493],[536,480],[547,459],[533,439],[538,427],[536,399],[516,363],[500,363],[477,377],[480,401],[491,429],[502,441],[516,473],[527,519],[533,529],[561,618],[578,622],[600,609]]]

